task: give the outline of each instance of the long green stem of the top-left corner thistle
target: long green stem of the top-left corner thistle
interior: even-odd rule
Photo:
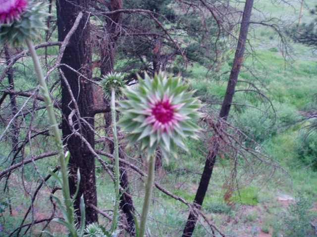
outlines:
[[[61,175],[62,175],[62,192],[63,192],[63,197],[65,201],[65,206],[67,209],[67,215],[68,215],[68,221],[70,224],[75,225],[75,218],[73,216],[73,210],[72,210],[72,203],[71,203],[71,198],[70,198],[70,193],[69,193],[69,185],[68,185],[68,177],[67,177],[67,166],[65,162],[65,154],[63,150],[63,143],[60,137],[59,129],[58,129],[58,124],[54,115],[54,110],[53,110],[53,103],[50,97],[50,93],[48,90],[48,87],[46,85],[44,76],[43,76],[43,71],[40,65],[40,61],[38,59],[38,56],[36,54],[35,48],[33,43],[30,40],[26,40],[26,43],[29,47],[30,54],[33,59],[34,63],[34,68],[36,75],[38,77],[40,86],[41,86],[41,91],[44,97],[45,105],[49,114],[50,122],[51,122],[51,127],[53,129],[53,134],[54,134],[54,140],[57,146],[57,151],[58,151],[58,156],[59,156],[59,164],[60,164],[60,170],[61,170]]]

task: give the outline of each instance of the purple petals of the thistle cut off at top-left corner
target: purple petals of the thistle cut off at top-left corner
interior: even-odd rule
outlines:
[[[0,24],[20,19],[27,2],[25,0],[0,0]]]

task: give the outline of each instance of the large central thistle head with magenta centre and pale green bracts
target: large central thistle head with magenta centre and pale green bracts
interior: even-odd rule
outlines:
[[[149,158],[159,146],[166,160],[169,154],[176,157],[177,146],[187,151],[185,137],[197,139],[200,130],[191,121],[201,117],[195,91],[186,92],[188,86],[179,77],[167,79],[161,72],[153,80],[147,74],[144,81],[138,79],[138,91],[125,89],[128,100],[118,102],[125,118],[117,125],[130,132],[128,147],[140,142],[139,152],[147,151]]]

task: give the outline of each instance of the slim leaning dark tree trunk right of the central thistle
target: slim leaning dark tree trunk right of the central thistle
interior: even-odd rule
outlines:
[[[253,0],[246,0],[246,4],[244,7],[243,16],[242,16],[241,29],[240,29],[237,48],[236,48],[236,53],[233,60],[230,77],[228,80],[226,94],[225,94],[225,97],[221,106],[220,114],[219,114],[220,120],[221,119],[226,120],[230,112],[230,107],[231,107],[233,95],[235,92],[235,86],[237,84],[240,68],[243,63],[243,55],[244,55],[245,44],[246,44],[246,40],[248,36],[252,7],[253,7]],[[218,122],[217,125],[221,126],[221,121]],[[202,207],[204,198],[206,196],[208,185],[211,179],[213,166],[216,161],[216,155],[219,148],[217,137],[218,137],[218,134],[214,133],[214,135],[211,138],[211,149],[208,153],[204,171],[200,180],[196,197],[194,199],[194,204],[199,209]],[[184,231],[183,231],[183,237],[192,236],[195,229],[196,222],[197,222],[197,215],[195,215],[195,213],[193,212],[190,212]]]

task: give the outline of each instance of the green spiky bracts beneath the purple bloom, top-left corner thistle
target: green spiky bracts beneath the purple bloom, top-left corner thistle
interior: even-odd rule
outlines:
[[[37,2],[35,0],[29,1],[19,19],[15,19],[9,24],[0,25],[0,47],[7,42],[9,45],[15,46],[24,44],[25,40],[32,40],[32,38],[39,39],[39,30],[47,30],[46,25],[40,18],[47,17],[48,14],[42,11],[46,4]]]

